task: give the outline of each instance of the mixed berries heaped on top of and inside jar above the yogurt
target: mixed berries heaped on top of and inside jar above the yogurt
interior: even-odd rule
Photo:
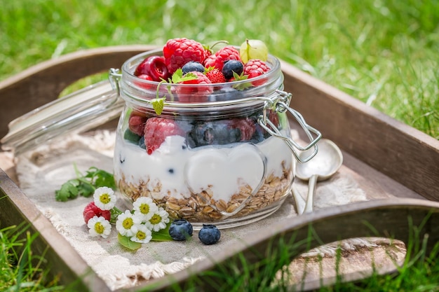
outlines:
[[[223,46],[213,53],[191,39],[168,40],[163,46],[163,56],[145,58],[134,73],[138,78],[160,82],[142,83],[141,86],[157,92],[157,97],[152,99],[151,104],[158,117],[149,118],[144,113],[131,113],[124,138],[146,149],[149,154],[154,153],[166,137],[174,134],[187,139],[189,148],[262,141],[266,133],[258,125],[255,116],[245,114],[233,119],[212,121],[194,119],[187,122],[189,125],[185,125],[184,130],[178,125],[181,121],[160,117],[168,98],[173,98],[174,102],[223,102],[241,99],[247,88],[262,85],[265,81],[261,78],[257,81],[226,85],[231,81],[243,81],[263,75],[270,70],[269,65],[264,62],[268,50],[262,41],[246,40],[243,45],[240,50],[234,46]],[[242,59],[243,53],[251,59]],[[170,75],[171,73],[173,74]],[[166,83],[182,86],[168,87]],[[158,84],[160,88],[157,90]]]

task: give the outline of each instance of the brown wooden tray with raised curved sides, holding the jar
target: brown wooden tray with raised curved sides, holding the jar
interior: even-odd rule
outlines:
[[[0,83],[0,137],[8,123],[38,106],[58,97],[67,85],[85,76],[109,68],[121,68],[129,57],[151,50],[153,46],[116,46],[83,50],[43,62]],[[342,148],[344,169],[356,176],[362,188],[370,193],[389,194],[386,200],[370,200],[314,211],[294,221],[279,222],[246,242],[217,254],[215,260],[206,258],[187,270],[154,279],[147,284],[124,291],[171,291],[172,285],[181,288],[195,275],[202,274],[198,286],[215,287],[208,271],[227,272],[238,263],[239,254],[249,263],[266,264],[263,258],[276,255],[278,242],[303,242],[299,253],[315,246],[351,237],[382,236],[408,242],[412,225],[420,226],[418,240],[428,235],[427,249],[439,240],[439,141],[412,127],[366,106],[330,85],[312,78],[290,64],[282,62],[285,91],[293,93],[291,106],[306,122],[316,127],[323,137],[332,139]],[[62,76],[62,78],[60,78]],[[293,128],[297,125],[291,121]],[[63,284],[76,286],[77,291],[109,291],[79,254],[60,235],[53,225],[36,209],[16,185],[14,164],[6,153],[0,152],[0,228],[28,222],[40,236],[32,247],[43,254],[50,272]],[[411,221],[409,220],[411,218]],[[368,224],[365,224],[367,222]],[[410,225],[412,224],[412,225]],[[372,232],[370,226],[373,226]],[[313,236],[309,230],[313,228]],[[256,271],[254,271],[256,272]],[[353,273],[345,279],[360,279]],[[329,281],[330,283],[331,281]],[[194,283],[192,282],[191,285]],[[305,289],[318,283],[305,283]]]

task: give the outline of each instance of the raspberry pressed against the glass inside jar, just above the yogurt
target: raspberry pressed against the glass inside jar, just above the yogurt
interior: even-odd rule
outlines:
[[[169,136],[184,136],[184,131],[170,118],[149,118],[144,128],[144,142],[151,155]]]

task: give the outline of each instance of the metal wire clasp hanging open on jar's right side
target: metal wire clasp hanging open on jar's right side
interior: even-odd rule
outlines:
[[[290,104],[290,101],[292,98],[291,93],[288,93],[288,92],[285,92],[282,90],[276,90],[276,93],[278,93],[278,95],[273,97],[273,99],[267,99],[265,101],[264,112],[261,116],[259,116],[258,123],[259,123],[259,125],[261,125],[261,127],[264,128],[264,130],[266,130],[266,132],[269,132],[269,134],[271,134],[272,136],[283,139],[283,141],[285,141],[285,143],[288,145],[288,147],[290,147],[290,149],[291,149],[292,153],[295,155],[295,158],[297,159],[297,161],[299,161],[301,163],[308,162],[309,160],[311,160],[311,158],[313,158],[317,154],[318,147],[316,144],[317,144],[318,140],[321,139],[322,134],[318,130],[316,130],[314,127],[311,127],[310,125],[308,125],[305,122],[303,116],[298,111],[295,111],[294,109],[291,109],[290,106],[288,106],[288,104]],[[308,145],[300,146],[291,137],[288,137],[288,136],[285,136],[284,134],[282,134],[278,130],[276,125],[274,125],[271,122],[271,120],[269,120],[269,118],[268,118],[269,109],[272,109],[273,106],[274,106],[274,109],[276,110],[276,113],[284,113],[285,111],[290,112],[290,114],[295,118],[295,120],[297,120],[297,123],[299,123],[299,125],[304,130],[306,137],[308,137],[308,139],[309,139]],[[313,137],[313,134],[316,135],[316,137]],[[300,153],[299,151],[308,151],[311,148],[313,148],[313,151],[311,154],[306,155],[304,157],[301,157],[301,155],[299,155],[299,153]]]

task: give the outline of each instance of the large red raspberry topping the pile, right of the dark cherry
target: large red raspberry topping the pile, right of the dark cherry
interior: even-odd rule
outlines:
[[[163,47],[163,57],[169,74],[172,75],[189,61],[203,63],[205,50],[201,43],[191,39],[170,39]]]

